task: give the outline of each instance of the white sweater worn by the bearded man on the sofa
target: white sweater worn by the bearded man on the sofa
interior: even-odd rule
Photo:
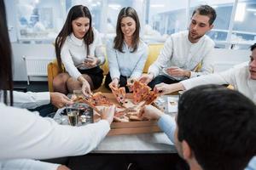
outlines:
[[[183,70],[191,71],[190,77],[198,77],[213,72],[212,51],[214,42],[204,35],[196,43],[189,42],[189,31],[181,31],[172,34],[161,50],[160,55],[150,65],[148,72],[157,77],[162,69],[170,66],[177,66]],[[195,72],[195,68],[201,63],[201,72]]]

